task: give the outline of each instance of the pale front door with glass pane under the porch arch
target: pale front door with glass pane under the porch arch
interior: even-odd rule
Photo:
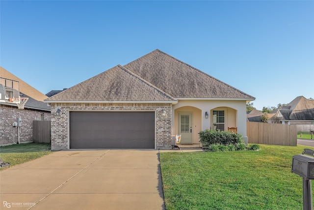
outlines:
[[[181,135],[182,144],[192,144],[192,113],[179,113],[179,135]]]

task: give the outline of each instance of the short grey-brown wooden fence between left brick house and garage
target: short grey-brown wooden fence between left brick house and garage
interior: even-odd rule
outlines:
[[[51,142],[51,121],[33,121],[33,140],[36,143]]]

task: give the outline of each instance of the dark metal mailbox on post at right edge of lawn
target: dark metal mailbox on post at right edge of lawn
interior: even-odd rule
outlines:
[[[304,155],[309,154],[312,155]],[[297,154],[292,157],[291,172],[300,175],[301,177],[314,180],[314,150],[304,149],[302,154]]]

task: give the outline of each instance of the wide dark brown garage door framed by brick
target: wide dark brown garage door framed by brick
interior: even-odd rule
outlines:
[[[70,112],[71,149],[155,149],[154,112]]]

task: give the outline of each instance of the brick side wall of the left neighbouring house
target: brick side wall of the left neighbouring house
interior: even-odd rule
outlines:
[[[18,143],[18,127],[13,127],[12,123],[17,122],[17,118],[22,118],[20,127],[20,143],[32,142],[33,120],[51,120],[50,112],[35,111],[31,109],[18,109],[14,106],[0,104],[0,146],[13,145]]]

